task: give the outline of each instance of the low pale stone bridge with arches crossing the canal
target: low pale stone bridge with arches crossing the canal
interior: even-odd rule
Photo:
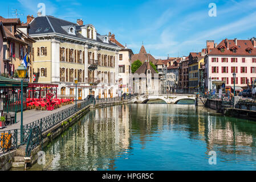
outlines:
[[[195,94],[139,95],[129,103],[146,104],[149,100],[163,100],[166,104],[177,104],[180,100],[196,100]]]

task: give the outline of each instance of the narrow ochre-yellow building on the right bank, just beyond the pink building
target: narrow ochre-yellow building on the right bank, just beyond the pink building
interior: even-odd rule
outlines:
[[[199,69],[204,63],[204,56],[201,52],[190,52],[189,54],[189,92],[199,92]]]

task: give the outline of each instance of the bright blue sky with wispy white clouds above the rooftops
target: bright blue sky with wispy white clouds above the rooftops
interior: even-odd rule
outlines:
[[[18,9],[19,18],[26,22],[26,15],[36,16],[38,3],[46,5],[46,14],[76,22],[92,23],[97,32],[110,31],[123,45],[138,53],[142,42],[147,52],[156,58],[187,56],[201,51],[206,40],[248,39],[256,37],[256,1],[207,1],[207,0],[18,0],[1,1],[0,15],[13,16]],[[216,3],[217,16],[210,17],[209,3]]]

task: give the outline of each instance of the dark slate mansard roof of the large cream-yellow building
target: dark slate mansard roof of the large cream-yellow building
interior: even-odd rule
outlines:
[[[68,30],[70,26],[75,27],[75,35],[68,34]],[[86,26],[87,25],[83,25]],[[68,22],[67,20],[64,19],[59,19],[54,16],[38,16],[32,22],[30,23],[30,28],[29,28],[29,35],[32,35],[33,37],[38,34],[51,34],[51,33],[58,33],[58,34],[63,34],[67,36],[71,36],[74,38],[79,38],[79,39],[84,39],[84,40],[92,40],[94,42],[99,42],[103,44],[107,44],[109,46],[117,46],[115,43],[111,42],[110,40],[108,43],[103,42],[103,37],[105,35],[100,35],[99,33],[96,32],[96,40],[94,39],[87,39],[85,38],[82,34],[80,34],[78,31],[81,31],[83,26],[79,26],[77,23],[72,23]]]

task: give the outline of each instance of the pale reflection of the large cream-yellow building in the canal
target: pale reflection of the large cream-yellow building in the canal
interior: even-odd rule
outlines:
[[[129,148],[127,107],[104,107],[85,115],[51,146],[51,154],[59,153],[52,164],[58,164],[62,169],[72,168],[66,162],[77,160],[78,166],[86,170],[115,169],[116,156],[120,152],[127,153]]]

